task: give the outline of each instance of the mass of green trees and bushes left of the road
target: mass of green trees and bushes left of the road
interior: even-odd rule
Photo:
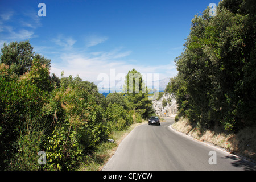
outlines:
[[[28,41],[1,49],[1,170],[78,169],[113,147],[109,139],[115,133],[154,113],[148,93],[105,98],[93,82],[64,77],[64,72],[59,78],[50,68],[51,60],[33,52]],[[38,164],[39,151],[46,152],[46,165]]]

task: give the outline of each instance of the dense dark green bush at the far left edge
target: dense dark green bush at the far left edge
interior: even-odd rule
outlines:
[[[40,109],[47,101],[47,93],[36,85],[23,81],[6,81],[0,77],[0,167],[5,168],[18,151],[17,140],[24,133],[27,113],[40,118]],[[38,120],[40,121],[40,120]]]

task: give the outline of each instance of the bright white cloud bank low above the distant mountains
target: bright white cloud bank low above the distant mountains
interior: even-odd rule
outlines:
[[[122,49],[114,49],[109,52],[93,52],[93,53],[63,53],[59,58],[59,63],[52,62],[51,72],[60,77],[61,71],[64,76],[79,75],[82,80],[97,81],[98,75],[105,73],[109,76],[114,69],[115,76],[119,73],[127,75],[131,69],[136,69],[140,73],[158,73],[159,79],[175,76],[177,74],[175,65],[170,62],[167,65],[146,65],[131,64],[127,59],[131,51],[123,51]],[[60,64],[61,62],[61,64]]]

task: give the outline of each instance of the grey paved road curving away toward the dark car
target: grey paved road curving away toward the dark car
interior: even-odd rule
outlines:
[[[174,119],[160,126],[140,125],[119,144],[103,170],[256,170],[248,162],[216,147],[193,140],[170,129]],[[216,151],[216,163],[210,151]]]

